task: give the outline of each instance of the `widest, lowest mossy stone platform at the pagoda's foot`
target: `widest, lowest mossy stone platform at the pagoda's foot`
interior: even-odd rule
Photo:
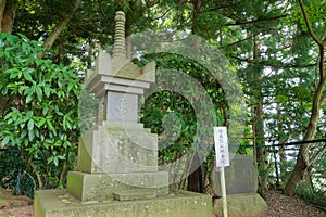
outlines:
[[[66,190],[35,192],[35,217],[211,217],[212,197],[187,191],[136,201],[80,202]]]

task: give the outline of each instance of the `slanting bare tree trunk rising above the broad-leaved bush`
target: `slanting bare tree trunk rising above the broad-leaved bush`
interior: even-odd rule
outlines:
[[[48,36],[48,38],[43,42],[45,49],[50,49],[53,46],[54,41],[58,39],[58,37],[62,33],[62,30],[66,27],[66,25],[71,21],[72,16],[79,8],[80,3],[82,3],[82,0],[76,0],[75,4],[74,4],[74,9],[71,11],[71,13],[65,14],[63,20],[57,24],[57,26],[53,28],[51,34]]]

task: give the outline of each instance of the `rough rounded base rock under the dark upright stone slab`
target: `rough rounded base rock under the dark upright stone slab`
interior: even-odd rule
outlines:
[[[256,193],[227,195],[227,212],[230,217],[259,217],[267,210],[266,202]],[[215,217],[223,217],[222,199],[214,200]]]

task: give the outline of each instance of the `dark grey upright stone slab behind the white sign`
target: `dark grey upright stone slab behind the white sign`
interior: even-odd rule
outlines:
[[[256,193],[258,171],[253,165],[252,157],[235,155],[230,166],[224,168],[226,194]],[[214,170],[212,180],[217,196],[222,196],[220,186],[220,171]]]

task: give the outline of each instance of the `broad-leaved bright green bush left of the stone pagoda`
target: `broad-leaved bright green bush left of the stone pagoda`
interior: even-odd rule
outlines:
[[[1,146],[20,151],[34,188],[64,184],[79,135],[80,79],[45,55],[38,41],[0,34]]]

